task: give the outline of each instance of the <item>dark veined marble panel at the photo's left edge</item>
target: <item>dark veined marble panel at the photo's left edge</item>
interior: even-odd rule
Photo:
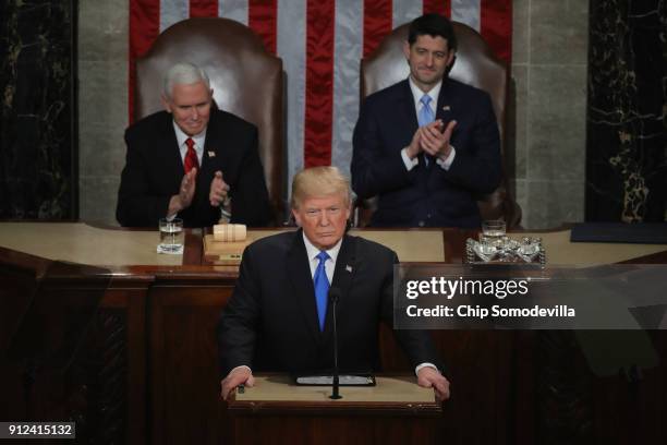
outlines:
[[[77,216],[75,1],[0,2],[0,218]]]

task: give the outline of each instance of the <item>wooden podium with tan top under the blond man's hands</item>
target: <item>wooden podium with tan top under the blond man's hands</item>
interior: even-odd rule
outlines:
[[[416,377],[378,376],[376,386],[298,386],[282,374],[228,401],[230,444],[433,444],[444,438],[441,404]]]

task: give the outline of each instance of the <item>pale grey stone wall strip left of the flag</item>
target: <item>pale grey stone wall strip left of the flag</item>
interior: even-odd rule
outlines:
[[[128,0],[78,0],[80,217],[105,225],[125,165],[129,14]]]

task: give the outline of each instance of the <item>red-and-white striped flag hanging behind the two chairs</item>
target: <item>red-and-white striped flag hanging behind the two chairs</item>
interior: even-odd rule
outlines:
[[[130,0],[130,79],[135,59],[174,23],[201,16],[241,22],[282,58],[288,73],[289,179],[312,166],[348,172],[360,59],[392,28],[437,12],[477,29],[509,63],[511,7],[511,0]],[[131,104],[132,88],[130,82]]]

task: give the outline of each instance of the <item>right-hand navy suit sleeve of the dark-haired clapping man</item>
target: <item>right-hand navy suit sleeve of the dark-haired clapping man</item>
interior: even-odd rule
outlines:
[[[500,134],[490,97],[483,94],[475,106],[470,147],[459,151],[449,168],[441,171],[448,182],[477,193],[492,193],[502,177]],[[456,132],[456,129],[454,129]],[[456,143],[452,142],[456,147]]]

